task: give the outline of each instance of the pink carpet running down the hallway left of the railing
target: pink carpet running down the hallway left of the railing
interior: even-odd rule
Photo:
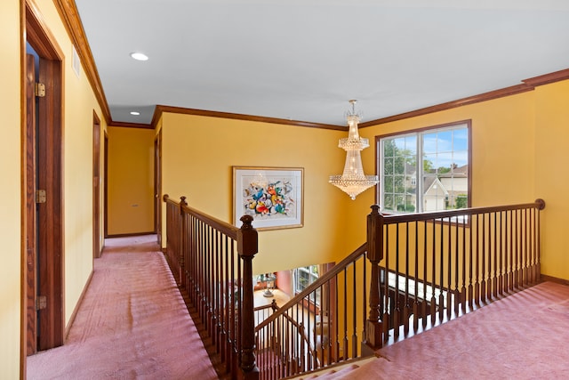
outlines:
[[[30,380],[217,378],[155,235],[109,239],[66,343],[28,357]]]

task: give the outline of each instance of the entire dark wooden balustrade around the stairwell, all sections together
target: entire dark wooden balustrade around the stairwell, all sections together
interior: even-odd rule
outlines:
[[[236,229],[184,198],[164,201],[166,256],[231,379],[349,371],[385,344],[540,278],[541,199],[429,214],[372,206],[365,244],[254,326],[252,218]]]

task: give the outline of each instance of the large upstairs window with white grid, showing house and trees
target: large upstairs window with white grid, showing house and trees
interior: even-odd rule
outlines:
[[[376,138],[378,203],[388,213],[469,206],[470,121]]]

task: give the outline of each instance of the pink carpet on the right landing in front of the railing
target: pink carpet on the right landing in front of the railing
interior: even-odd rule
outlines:
[[[362,365],[302,378],[569,378],[569,287],[541,283],[376,354]]]

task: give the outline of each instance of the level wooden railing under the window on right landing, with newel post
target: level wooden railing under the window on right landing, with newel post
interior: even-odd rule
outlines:
[[[538,282],[544,207],[537,199],[387,215],[372,206],[368,244],[379,275],[371,277],[368,344],[380,348],[381,336],[397,341]]]

